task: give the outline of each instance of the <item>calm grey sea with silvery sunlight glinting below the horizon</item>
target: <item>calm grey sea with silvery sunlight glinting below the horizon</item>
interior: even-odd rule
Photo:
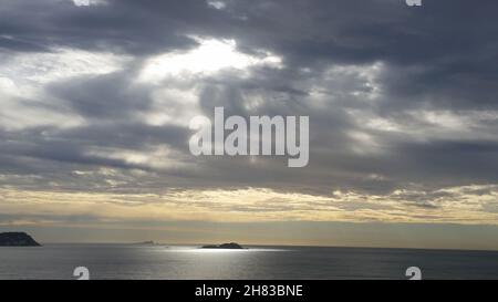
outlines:
[[[363,248],[46,244],[0,248],[0,279],[498,279],[498,252]]]

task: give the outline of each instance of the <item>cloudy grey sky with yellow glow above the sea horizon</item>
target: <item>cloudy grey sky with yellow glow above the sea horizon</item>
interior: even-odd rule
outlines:
[[[492,0],[0,0],[0,230],[498,249]],[[310,159],[189,121],[309,116]]]

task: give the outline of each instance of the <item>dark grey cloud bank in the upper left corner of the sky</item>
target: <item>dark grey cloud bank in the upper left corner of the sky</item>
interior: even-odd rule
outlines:
[[[69,46],[141,55],[195,44],[183,34],[183,27],[177,27],[175,20],[180,15],[174,11],[153,12],[128,1],[76,7],[70,0],[21,0],[2,1],[1,6],[0,33],[13,37],[0,40],[4,49]]]

